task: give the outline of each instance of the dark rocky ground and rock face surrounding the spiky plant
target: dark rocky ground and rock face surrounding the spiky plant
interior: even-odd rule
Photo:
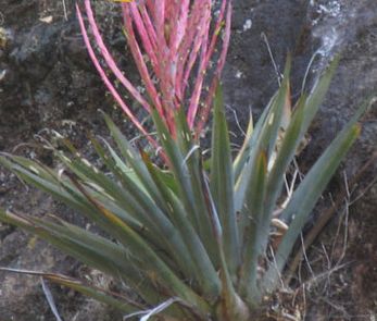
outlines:
[[[117,16],[104,11],[114,5],[104,3],[97,2],[102,29],[120,64],[133,74]],[[370,95],[377,96],[375,7],[375,0],[235,1],[231,48],[224,74],[234,131],[241,135],[235,114],[241,126],[250,109],[260,114],[277,88],[276,69],[281,71],[288,51],[294,63],[293,96],[301,90],[312,58],[307,84],[339,52],[340,66],[311,129],[311,145],[299,159],[305,172],[357,106]],[[73,9],[72,0],[0,0],[0,151],[26,155],[54,165],[51,155],[38,148],[34,136],[55,129],[67,135],[90,158],[86,131],[108,135],[98,109],[110,112],[131,135],[131,127],[113,109],[113,101],[105,95],[87,57]],[[377,152],[376,141],[375,103],[363,119],[360,141],[332,180],[314,217],[321,217],[344,182],[351,181]],[[351,188],[348,206],[336,213],[307,251],[299,281],[293,284],[305,307],[302,319],[377,317],[377,185],[370,184],[376,175],[377,165],[373,163],[363,181]],[[0,206],[35,215],[58,212],[73,222],[85,223],[3,169],[0,169]],[[1,224],[0,266],[96,279],[85,267],[45,243]],[[51,287],[64,320],[122,319],[75,293]],[[0,272],[0,320],[55,320],[39,280]]]

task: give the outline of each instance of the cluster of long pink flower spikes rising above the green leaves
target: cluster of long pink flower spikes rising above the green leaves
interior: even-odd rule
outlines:
[[[84,0],[93,41],[103,60],[101,65],[77,5],[77,16],[89,55],[114,99],[136,127],[156,146],[111,82],[104,67],[148,113],[156,109],[175,136],[174,113],[185,109],[190,129],[199,135],[210,115],[215,88],[229,46],[231,1],[219,1],[214,18],[212,0],[122,1],[124,33],[147,97],[118,69],[108,50],[90,0]],[[127,2],[127,3],[126,3]]]

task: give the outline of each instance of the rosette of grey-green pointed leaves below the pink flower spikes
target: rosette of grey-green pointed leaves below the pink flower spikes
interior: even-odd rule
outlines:
[[[16,156],[0,157],[18,177],[87,217],[108,237],[56,217],[47,220],[0,211],[0,220],[125,284],[125,294],[114,295],[70,277],[43,274],[125,313],[147,311],[144,320],[151,314],[159,314],[159,320],[253,320],[263,300],[284,282],[285,267],[307,217],[360,133],[363,109],[294,192],[285,192],[290,163],[335,67],[336,62],[291,110],[287,63],[279,90],[256,125],[250,123],[234,160],[219,88],[209,160],[203,159],[183,109],[172,115],[175,135],[159,110],[151,110],[166,169],[135,149],[108,115],[104,120],[118,152],[109,143],[91,138],[108,173],[65,139],[71,156],[55,150],[64,172]],[[278,243],[272,243],[273,222],[286,226]]]

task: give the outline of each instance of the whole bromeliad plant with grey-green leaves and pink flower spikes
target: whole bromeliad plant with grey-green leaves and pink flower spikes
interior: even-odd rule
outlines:
[[[0,220],[109,274],[120,289],[125,285],[123,293],[115,294],[67,276],[39,273],[114,306],[129,318],[252,320],[285,281],[297,238],[356,139],[357,120],[365,108],[305,177],[298,183],[293,175],[286,190],[291,162],[324,99],[336,60],[293,106],[288,60],[278,91],[255,126],[250,121],[243,146],[234,157],[218,86],[229,42],[230,1],[219,2],[214,23],[210,0],[121,4],[127,41],[148,97],[120,71],[102,40],[90,1],[84,2],[104,64],[150,113],[156,138],[148,135],[111,82],[77,7],[89,54],[122,109],[162,151],[165,165],[154,164],[146,151],[136,149],[104,114],[116,148],[103,139],[90,140],[106,172],[63,137],[66,152],[48,143],[46,147],[54,151],[64,170],[8,153],[0,155],[0,163],[85,215],[105,236],[56,215],[40,219],[0,210]],[[212,148],[206,159],[198,137],[213,104]],[[276,232],[278,239],[273,237]]]

